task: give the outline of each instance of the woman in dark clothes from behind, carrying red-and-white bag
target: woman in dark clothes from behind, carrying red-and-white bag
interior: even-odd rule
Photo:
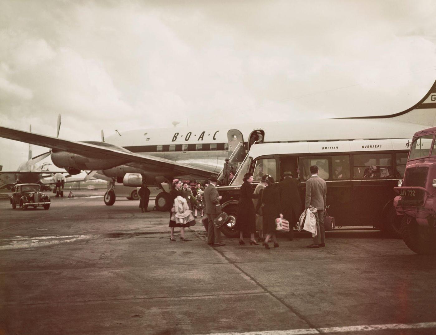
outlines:
[[[276,240],[276,219],[283,218],[283,215],[280,210],[280,190],[274,185],[274,178],[267,178],[267,185],[260,191],[260,198],[260,206],[263,204],[263,233],[266,233],[263,245],[265,249],[269,249],[268,241],[272,237],[274,247],[279,247]]]

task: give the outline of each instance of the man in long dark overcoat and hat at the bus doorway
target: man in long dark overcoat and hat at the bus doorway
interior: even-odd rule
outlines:
[[[300,217],[303,208],[301,206],[300,189],[296,179],[293,179],[292,172],[283,173],[283,180],[279,183],[280,203],[283,218],[289,221],[289,240],[294,238],[295,224]]]

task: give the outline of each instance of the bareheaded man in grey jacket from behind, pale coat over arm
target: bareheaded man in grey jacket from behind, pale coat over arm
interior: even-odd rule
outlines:
[[[306,181],[306,210],[310,205],[317,209],[315,219],[317,220],[317,235],[313,237],[313,244],[308,248],[325,247],[324,229],[324,208],[327,201],[327,184],[324,179],[318,176],[318,166],[310,166],[312,176]]]

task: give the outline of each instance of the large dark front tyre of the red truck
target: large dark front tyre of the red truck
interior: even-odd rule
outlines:
[[[433,227],[421,226],[414,217],[405,215],[401,224],[404,243],[420,255],[436,255],[436,231]]]

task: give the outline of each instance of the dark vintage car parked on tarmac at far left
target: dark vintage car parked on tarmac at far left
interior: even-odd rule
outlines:
[[[27,207],[44,207],[44,210],[48,210],[50,197],[41,192],[39,184],[17,184],[12,188],[10,204],[13,209],[19,206],[23,210]]]

